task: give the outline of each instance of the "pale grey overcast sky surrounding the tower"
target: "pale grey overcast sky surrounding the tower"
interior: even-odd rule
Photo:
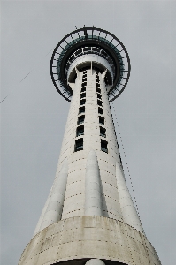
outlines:
[[[1,4],[1,101],[8,95],[1,103],[1,264],[18,263],[55,178],[69,103],[52,84],[50,57],[65,34],[85,24],[115,34],[129,53],[131,76],[112,113],[144,231],[162,264],[174,265],[176,2]]]

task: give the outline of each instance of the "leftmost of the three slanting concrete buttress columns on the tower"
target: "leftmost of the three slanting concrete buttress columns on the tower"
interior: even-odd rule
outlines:
[[[42,231],[45,227],[49,226],[52,223],[56,223],[61,220],[62,211],[65,201],[65,190],[66,190],[66,182],[68,175],[68,164],[67,161],[62,165],[62,168],[55,179],[53,184],[52,191],[50,193],[50,198],[46,202],[46,210],[42,215],[42,223],[38,231],[35,233]],[[45,208],[45,207],[44,207]]]

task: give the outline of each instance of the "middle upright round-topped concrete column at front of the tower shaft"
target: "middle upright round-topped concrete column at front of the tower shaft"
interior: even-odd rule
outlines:
[[[88,154],[85,180],[85,216],[103,216],[101,179],[96,152]]]

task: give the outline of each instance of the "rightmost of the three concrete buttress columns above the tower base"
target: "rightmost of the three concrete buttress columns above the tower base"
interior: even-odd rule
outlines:
[[[131,195],[126,186],[124,172],[119,163],[116,163],[116,178],[119,192],[119,204],[124,223],[131,225],[136,230],[144,234],[142,223],[134,207],[134,202],[132,201]]]

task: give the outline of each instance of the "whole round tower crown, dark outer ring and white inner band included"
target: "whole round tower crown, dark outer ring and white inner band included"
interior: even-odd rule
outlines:
[[[50,75],[65,100],[71,102],[76,69],[81,72],[91,68],[105,73],[109,101],[115,100],[130,76],[130,59],[124,44],[115,35],[96,27],[76,29],[58,42],[50,61]]]

